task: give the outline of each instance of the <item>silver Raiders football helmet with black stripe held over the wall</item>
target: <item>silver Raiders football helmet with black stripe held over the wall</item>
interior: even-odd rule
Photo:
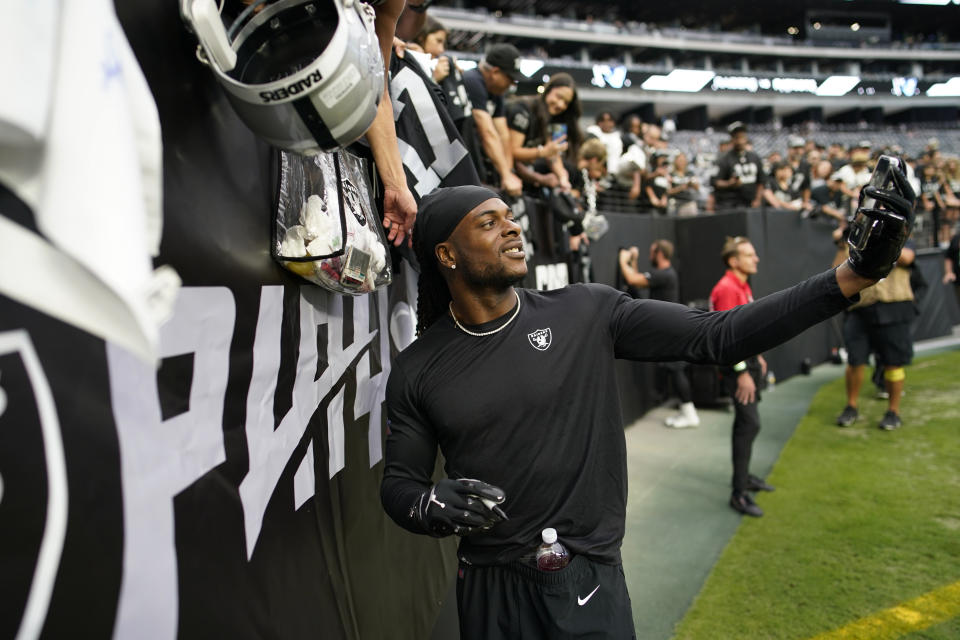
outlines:
[[[384,72],[369,5],[261,0],[228,31],[213,0],[181,0],[181,13],[198,57],[267,142],[309,155],[350,144],[373,122]]]

